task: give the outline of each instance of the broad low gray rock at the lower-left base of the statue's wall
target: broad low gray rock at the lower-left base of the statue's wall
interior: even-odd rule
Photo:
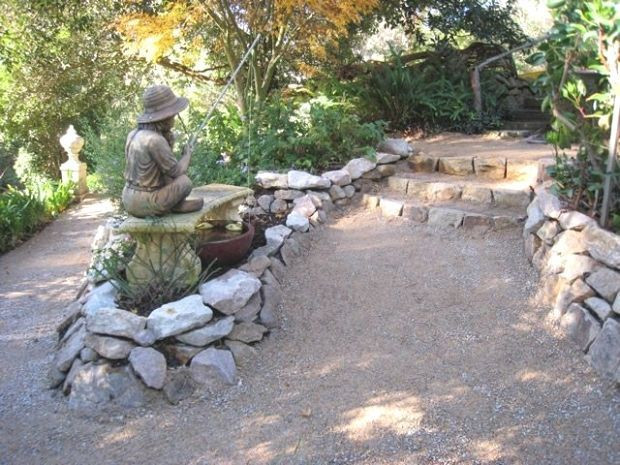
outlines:
[[[129,408],[141,407],[146,401],[145,389],[127,366],[87,363],[73,379],[69,407],[88,413],[111,403]]]

